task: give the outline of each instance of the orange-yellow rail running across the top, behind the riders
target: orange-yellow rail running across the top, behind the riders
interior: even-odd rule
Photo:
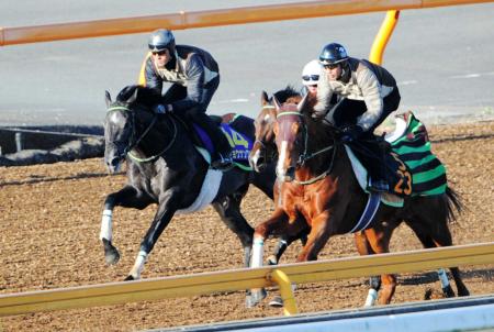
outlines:
[[[307,1],[37,26],[0,27],[0,46],[143,33],[159,27],[182,30],[482,2],[494,2],[494,0]]]

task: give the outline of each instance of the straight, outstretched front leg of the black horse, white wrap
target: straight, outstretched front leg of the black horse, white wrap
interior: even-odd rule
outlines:
[[[169,190],[160,198],[158,211],[156,211],[155,218],[141,242],[141,250],[125,280],[137,280],[141,278],[141,273],[144,269],[144,263],[146,263],[147,256],[178,210],[179,196],[178,191]]]

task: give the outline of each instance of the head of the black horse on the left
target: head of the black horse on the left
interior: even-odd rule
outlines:
[[[149,121],[149,98],[142,95],[153,93],[139,86],[128,86],[122,89],[112,101],[110,92],[105,91],[106,115],[104,118],[104,163],[110,173],[119,171],[127,153],[138,143],[139,121]],[[147,96],[148,97],[148,96]],[[157,103],[157,100],[150,103]],[[139,115],[137,117],[136,113]],[[147,115],[145,115],[147,114]],[[146,118],[146,119],[143,119]]]

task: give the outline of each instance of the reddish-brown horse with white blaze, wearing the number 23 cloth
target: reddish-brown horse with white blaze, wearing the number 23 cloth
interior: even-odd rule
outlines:
[[[307,228],[308,240],[296,261],[315,261],[330,236],[352,231],[368,199],[353,175],[344,144],[338,141],[337,129],[313,120],[305,100],[299,104],[280,104],[274,98],[271,112],[276,114],[273,133],[281,185],[279,192],[274,192],[274,212],[255,230],[252,267],[261,262],[267,237],[293,237]],[[406,197],[402,208],[381,204],[360,244],[357,242],[359,253],[389,252],[392,232],[402,221],[425,247],[451,245],[448,221],[454,218],[454,208],[460,210],[461,203],[449,187],[441,195]],[[450,272],[458,295],[468,296],[458,267],[451,267]],[[383,275],[381,279],[383,290],[379,303],[385,305],[394,294],[396,278]],[[255,290],[249,302],[256,303],[262,297],[262,291]]]

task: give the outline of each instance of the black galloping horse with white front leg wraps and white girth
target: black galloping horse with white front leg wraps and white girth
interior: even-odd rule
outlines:
[[[115,206],[144,209],[151,203],[158,204],[126,278],[138,279],[146,257],[173,214],[193,212],[201,196],[239,237],[248,266],[254,229],[240,213],[240,201],[250,184],[273,197],[274,165],[262,173],[237,167],[225,173],[211,170],[191,140],[188,125],[175,114],[157,115],[151,111],[159,101],[160,96],[139,86],[124,88],[114,102],[106,92],[104,162],[111,173],[119,170],[124,161],[127,165],[126,185],[104,201],[100,239],[106,263],[115,264],[120,259],[119,251],[112,244]],[[254,120],[245,119],[248,121],[235,121],[232,126],[254,140]]]

